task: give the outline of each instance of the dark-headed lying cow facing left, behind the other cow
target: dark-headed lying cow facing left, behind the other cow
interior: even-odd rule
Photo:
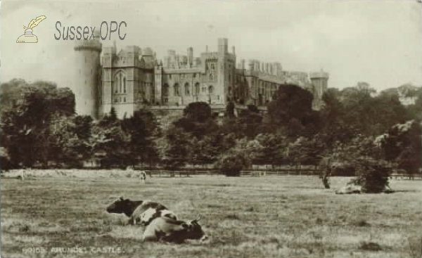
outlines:
[[[164,205],[150,200],[129,200],[120,198],[107,207],[108,213],[125,214],[129,217],[129,224],[148,224],[157,217],[167,217],[177,220],[176,214],[167,209]]]

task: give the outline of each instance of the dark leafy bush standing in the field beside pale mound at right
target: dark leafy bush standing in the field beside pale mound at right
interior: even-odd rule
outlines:
[[[388,186],[390,167],[383,160],[362,157],[356,160],[357,178],[352,183],[362,186],[364,193],[381,193]]]

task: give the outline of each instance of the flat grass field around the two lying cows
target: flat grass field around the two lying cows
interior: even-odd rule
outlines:
[[[421,181],[335,195],[347,180],[326,190],[316,176],[3,178],[1,257],[421,257]],[[141,243],[141,227],[105,211],[120,196],[162,202],[181,219],[200,214],[210,238]]]

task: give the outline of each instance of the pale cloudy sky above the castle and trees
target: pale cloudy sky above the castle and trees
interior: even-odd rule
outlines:
[[[103,46],[149,46],[158,58],[168,49],[200,56],[217,38],[236,46],[236,58],[279,62],[283,70],[324,69],[329,87],[368,82],[381,91],[402,84],[422,85],[422,4],[417,1],[2,1],[1,70],[6,82],[48,80],[72,88],[77,41],[54,39],[63,27],[102,21],[127,22],[120,40]],[[37,44],[17,44],[23,26],[39,15]]]

